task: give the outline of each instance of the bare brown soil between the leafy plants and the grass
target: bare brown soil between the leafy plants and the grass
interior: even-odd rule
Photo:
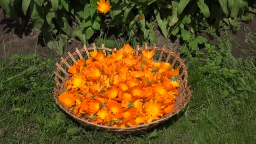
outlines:
[[[248,27],[251,29],[251,32],[256,33],[256,18],[248,24],[241,24],[240,29],[234,34],[236,42],[241,45],[242,48],[245,48],[245,50],[249,50],[251,45],[249,45],[245,40],[243,27]],[[33,29],[32,24],[28,24],[24,27],[11,19],[6,19],[4,17],[3,10],[0,9],[0,61],[6,59],[8,56],[19,53],[31,55],[36,52],[40,57],[52,56],[55,52],[45,47],[42,42],[43,40],[39,40],[38,44],[36,44],[39,34],[40,30]],[[165,48],[173,48],[175,52],[179,51],[178,39],[173,41],[166,40],[159,30],[155,30],[155,34],[157,37],[157,46],[162,47],[165,45]],[[74,51],[75,48],[82,47],[83,43],[76,39],[73,39],[72,43],[67,43],[65,45],[66,51],[71,52]],[[243,52],[237,48],[237,45],[234,42],[232,43],[232,53],[237,58],[245,56]],[[250,51],[248,53],[250,54]],[[252,55],[255,55],[255,53]]]

